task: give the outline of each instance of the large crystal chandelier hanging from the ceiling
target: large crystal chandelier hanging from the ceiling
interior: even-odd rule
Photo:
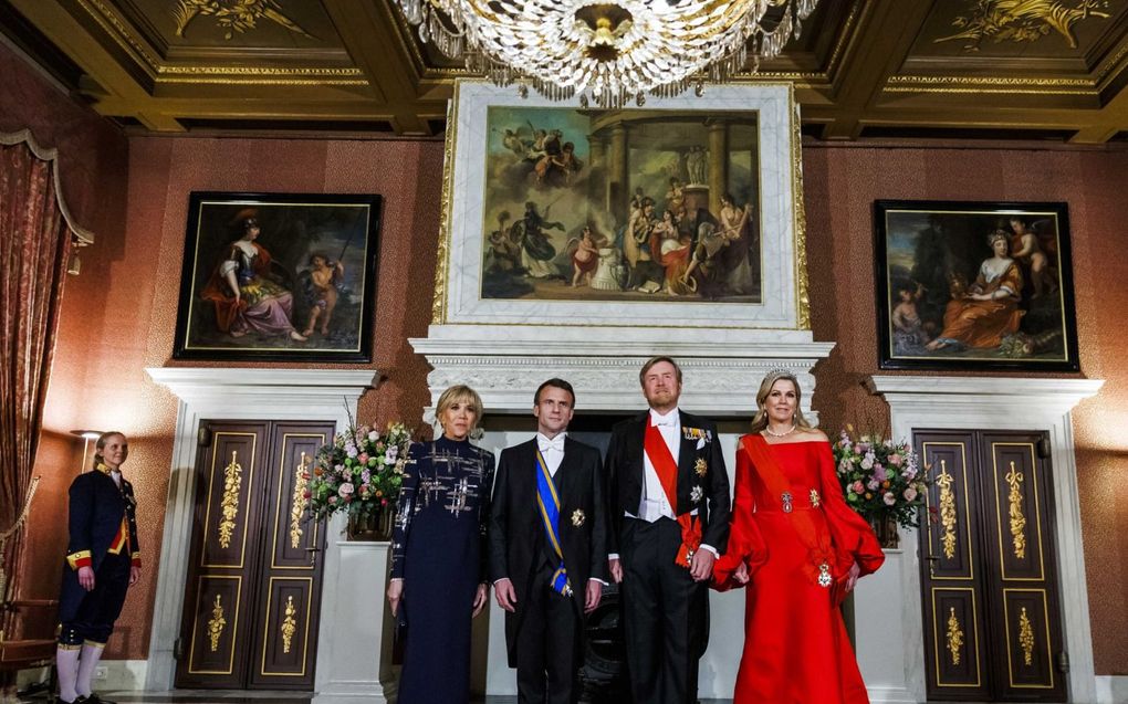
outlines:
[[[396,0],[420,37],[499,86],[619,107],[721,82],[799,36],[819,0]]]

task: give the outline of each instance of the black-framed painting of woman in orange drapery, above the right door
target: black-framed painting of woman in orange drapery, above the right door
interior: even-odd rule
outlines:
[[[883,369],[1076,372],[1065,203],[878,200]]]

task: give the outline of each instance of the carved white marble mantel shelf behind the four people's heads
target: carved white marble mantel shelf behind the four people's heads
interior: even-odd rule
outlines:
[[[776,367],[796,374],[810,411],[811,372],[834,348],[809,330],[460,324],[431,326],[411,344],[433,367],[432,404],[446,387],[465,383],[488,412],[526,415],[532,390],[558,376],[575,387],[585,411],[635,410],[643,362],[669,355],[685,373],[681,404],[719,417],[749,415],[760,378]]]

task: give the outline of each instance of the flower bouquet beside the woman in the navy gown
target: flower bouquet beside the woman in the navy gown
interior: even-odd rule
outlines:
[[[384,434],[369,426],[338,433],[332,444],[317,451],[309,478],[306,496],[314,518],[337,511],[367,517],[389,506],[395,510],[411,437],[402,422],[388,424]]]

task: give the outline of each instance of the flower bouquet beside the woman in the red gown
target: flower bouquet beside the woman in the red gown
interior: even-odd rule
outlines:
[[[887,520],[906,528],[920,525],[917,509],[924,506],[928,480],[913,446],[874,435],[855,440],[847,430],[834,444],[846,504],[874,525]]]

